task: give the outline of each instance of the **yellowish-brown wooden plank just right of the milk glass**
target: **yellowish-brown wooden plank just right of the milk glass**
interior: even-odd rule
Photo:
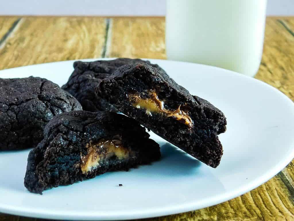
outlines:
[[[294,36],[281,22],[292,28],[283,19],[267,19],[263,57],[255,77],[294,100]]]

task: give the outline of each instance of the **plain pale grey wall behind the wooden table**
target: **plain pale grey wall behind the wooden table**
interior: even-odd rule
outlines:
[[[0,15],[164,16],[165,6],[165,0],[0,0]],[[294,0],[268,0],[267,15],[294,15]]]

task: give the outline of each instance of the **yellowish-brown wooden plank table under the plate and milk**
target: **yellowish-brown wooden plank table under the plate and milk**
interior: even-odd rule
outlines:
[[[165,59],[164,31],[163,17],[0,17],[0,70],[95,57]],[[267,18],[256,78],[294,100],[294,17]],[[152,220],[294,220],[293,162],[240,197]],[[0,214],[3,220],[33,219]]]

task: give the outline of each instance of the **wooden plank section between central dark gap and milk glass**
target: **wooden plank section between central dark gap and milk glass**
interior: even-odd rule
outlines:
[[[165,59],[165,19],[113,18],[106,57]]]

